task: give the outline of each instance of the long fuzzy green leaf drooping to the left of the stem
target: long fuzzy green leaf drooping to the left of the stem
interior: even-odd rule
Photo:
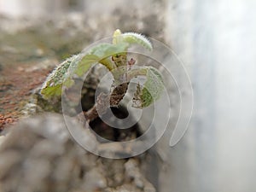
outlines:
[[[73,55],[66,61],[63,61],[60,66],[49,74],[40,93],[44,99],[51,99],[61,96],[62,85],[68,87],[73,85],[73,75],[81,77],[95,63],[102,63],[109,70],[115,68],[115,64],[108,58],[110,55],[123,53],[128,48],[128,44],[99,44],[90,49],[87,55]]]

